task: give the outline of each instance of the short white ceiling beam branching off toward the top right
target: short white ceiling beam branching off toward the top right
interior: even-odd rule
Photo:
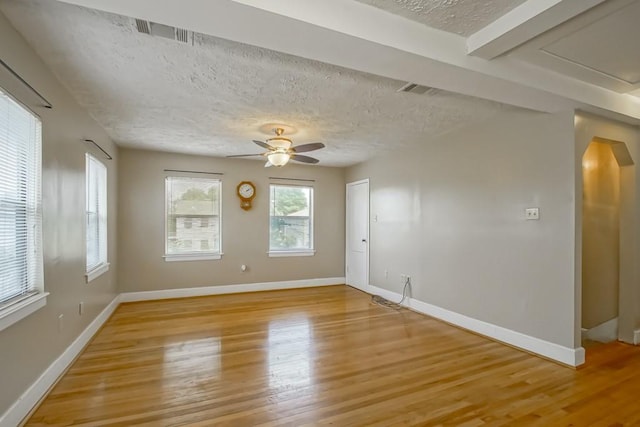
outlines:
[[[528,0],[467,39],[467,53],[493,59],[606,0]]]

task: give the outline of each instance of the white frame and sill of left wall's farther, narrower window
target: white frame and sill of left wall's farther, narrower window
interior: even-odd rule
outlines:
[[[98,182],[89,182],[90,179],[94,177],[94,175],[90,175],[89,168],[91,166],[91,162],[93,162],[99,168],[97,171]],[[104,179],[102,182],[100,181],[99,174],[104,173]],[[85,153],[85,278],[87,283],[92,282],[97,279],[107,271],[109,271],[109,170],[107,169],[107,165],[101,162],[96,156],[91,153]],[[98,264],[89,268],[87,265],[88,262],[88,236],[89,236],[89,227],[88,227],[88,216],[89,216],[89,192],[94,189],[93,184],[100,185],[102,184],[103,188],[98,189],[98,194],[96,197],[100,198],[97,206],[97,221],[98,221]],[[101,206],[104,206],[104,209],[100,209]]]

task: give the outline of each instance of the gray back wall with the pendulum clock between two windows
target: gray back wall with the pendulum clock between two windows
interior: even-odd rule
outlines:
[[[165,262],[165,169],[223,173],[221,260]],[[269,177],[315,180],[315,249],[310,257],[269,258]],[[120,150],[119,271],[122,292],[344,277],[344,170],[318,166],[265,168],[264,162]],[[236,195],[256,187],[253,208]],[[295,182],[292,182],[295,184]],[[246,272],[240,266],[246,264]]]

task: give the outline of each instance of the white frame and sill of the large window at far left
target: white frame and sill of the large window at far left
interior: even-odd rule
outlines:
[[[32,257],[25,256],[25,263],[31,261],[33,263],[33,282],[27,289],[27,292],[22,295],[16,295],[13,298],[9,298],[6,301],[0,303],[0,331],[8,328],[14,323],[24,319],[40,308],[47,304],[48,292],[44,289],[44,260],[43,260],[43,240],[42,240],[42,119],[31,108],[24,103],[20,102],[14,96],[12,96],[7,90],[0,87],[0,98],[4,98],[8,102],[15,103],[18,107],[22,108],[25,112],[29,113],[35,120],[36,136],[33,140],[29,140],[27,143],[34,143],[34,146],[26,148],[27,151],[31,151],[33,157],[29,162],[33,162],[31,166],[33,170],[27,169],[27,181],[31,181],[33,185],[32,192],[27,193],[28,198],[33,198],[34,206],[32,207],[33,216],[30,218],[27,215],[27,220],[31,220],[32,224],[29,227],[34,227],[31,238],[33,238]],[[26,165],[27,168],[29,164]],[[28,228],[29,228],[28,227]],[[29,235],[27,239],[29,239]],[[27,243],[29,246],[30,244]],[[29,253],[29,251],[27,251]]]

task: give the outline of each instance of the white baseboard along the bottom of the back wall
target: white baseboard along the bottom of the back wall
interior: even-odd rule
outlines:
[[[239,285],[125,292],[120,294],[120,302],[152,301],[168,298],[188,298],[242,292],[274,291],[279,289],[313,288],[316,286],[343,285],[344,282],[344,277],[328,277],[323,279],[290,280],[287,282],[244,283]]]

